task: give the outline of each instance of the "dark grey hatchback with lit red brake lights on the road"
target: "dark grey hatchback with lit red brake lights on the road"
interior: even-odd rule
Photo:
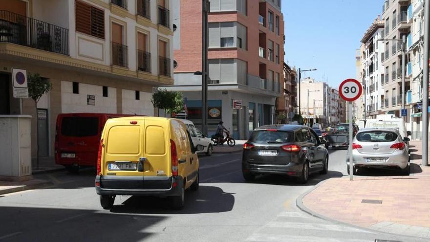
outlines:
[[[255,129],[243,145],[245,180],[262,174],[296,176],[306,183],[309,173],[328,171],[328,152],[318,135],[302,125],[266,125]]]

